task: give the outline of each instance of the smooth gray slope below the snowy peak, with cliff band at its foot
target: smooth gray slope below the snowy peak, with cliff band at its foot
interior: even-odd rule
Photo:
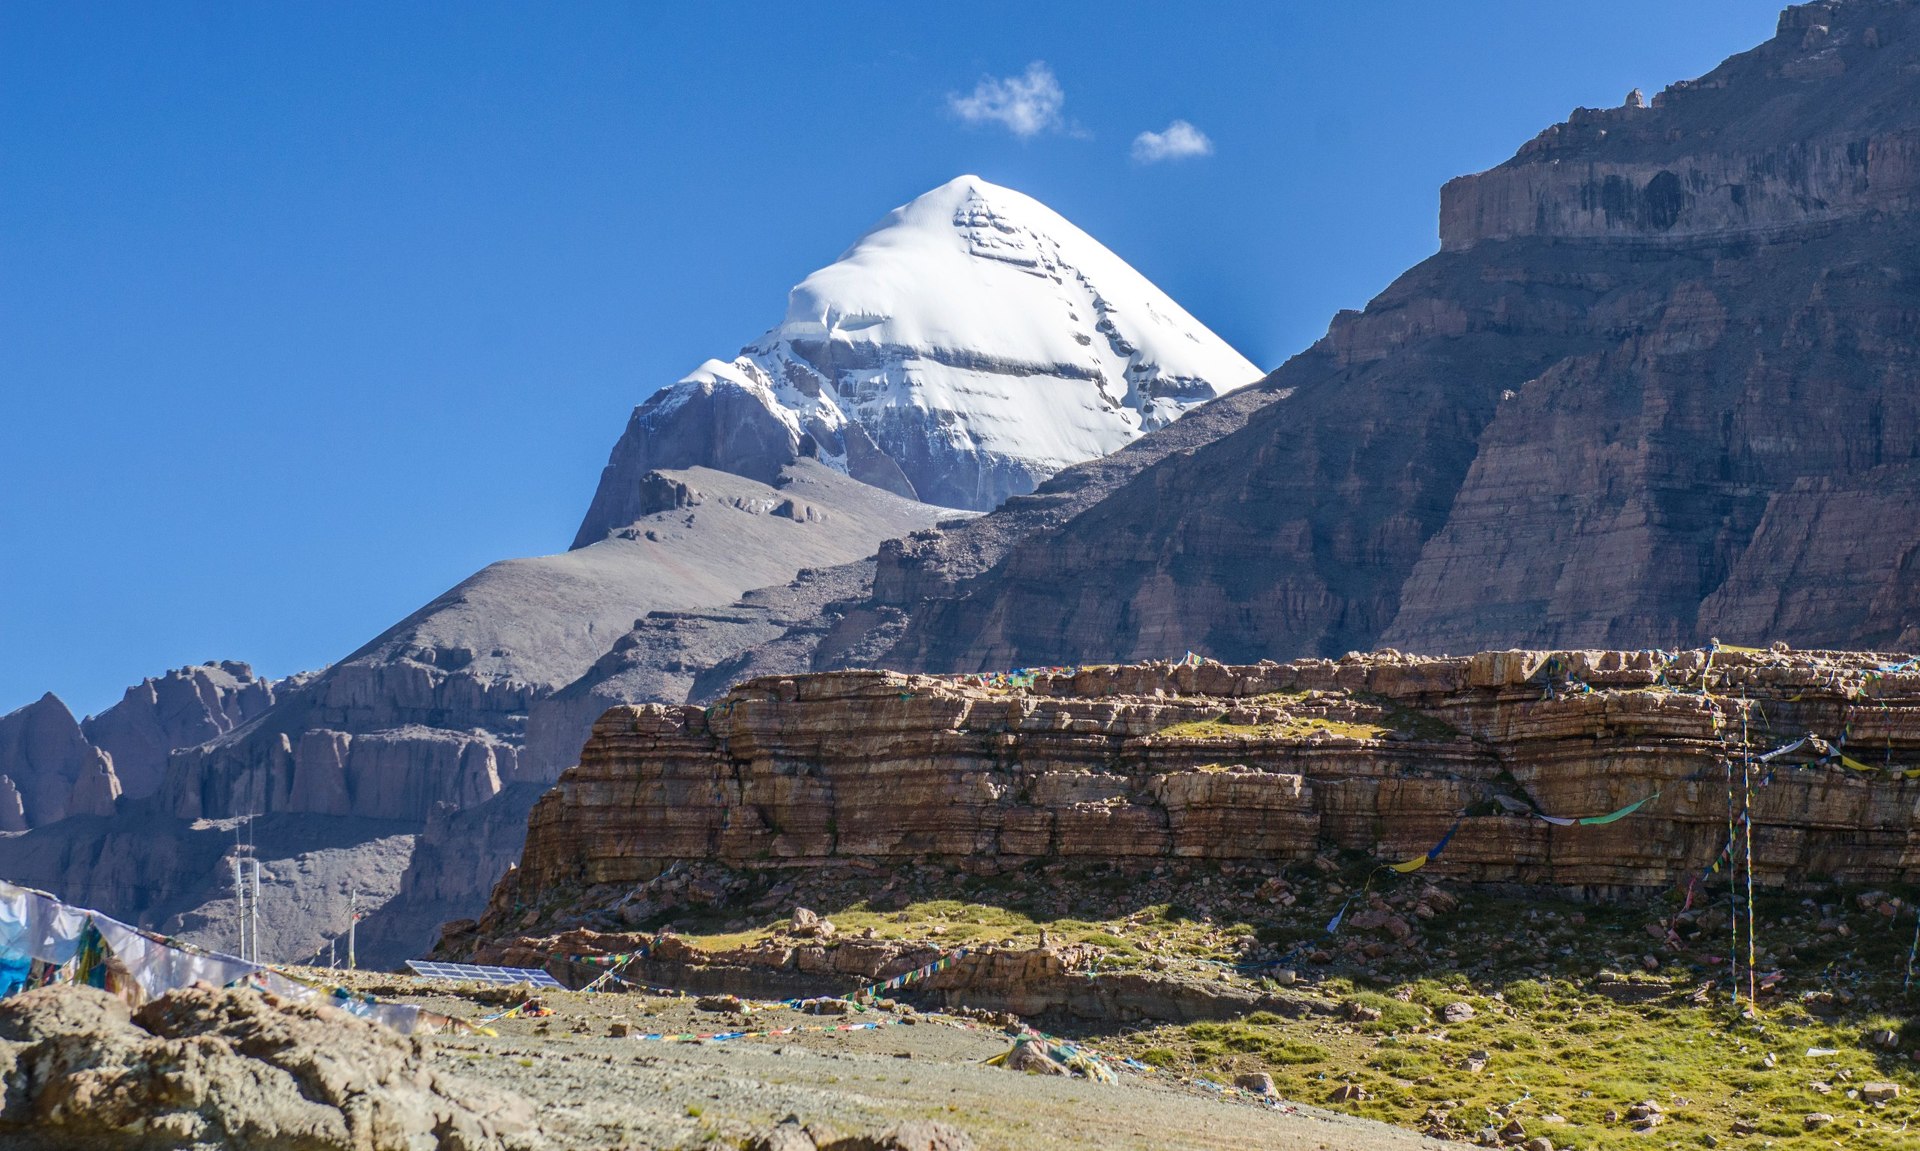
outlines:
[[[307,811],[424,822],[520,780],[551,780],[586,728],[536,705],[588,673],[649,611],[726,603],[806,565],[858,559],[937,509],[803,461],[772,488],[732,473],[657,473],[660,507],[589,548],[495,563],[286,692],[253,722],[175,755],[180,819]],[[588,717],[591,726],[591,717]]]

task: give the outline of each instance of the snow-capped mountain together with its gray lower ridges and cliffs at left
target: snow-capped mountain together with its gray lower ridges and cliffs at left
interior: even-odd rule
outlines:
[[[219,853],[244,826],[269,901],[301,909],[271,917],[273,953],[323,947],[348,886],[399,895],[363,955],[415,953],[478,907],[609,699],[718,690],[743,649],[862,594],[883,540],[970,517],[937,503],[1031,488],[1256,375],[1091,236],[962,177],[808,277],[733,363],[641,405],[570,551],[495,563],[296,680],[209,667],[86,732],[58,701],[0,721],[23,782],[0,780],[0,828],[36,828],[0,863],[225,938]]]

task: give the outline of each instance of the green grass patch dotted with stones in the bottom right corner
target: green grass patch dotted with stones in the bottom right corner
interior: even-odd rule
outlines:
[[[1265,1070],[1290,1099],[1400,1126],[1425,1126],[1430,1113],[1444,1113],[1450,1136],[1465,1141],[1511,1116],[1530,1136],[1574,1151],[1920,1147],[1920,1074],[1905,1059],[1862,1045],[1864,1034],[1899,1030],[1903,1016],[1822,1018],[1786,1003],[1759,1020],[1741,1020],[1724,1001],[1628,1005],[1567,980],[1538,978],[1473,988],[1453,976],[1402,984],[1394,993],[1329,980],[1321,990],[1340,1001],[1331,1015],[1294,1020],[1261,1013],[1164,1026],[1125,1043],[1154,1051],[1156,1066],[1192,1068],[1223,1082]],[[1428,1015],[1453,1001],[1471,1003],[1475,1016],[1444,1024]],[[1346,1005],[1379,1009],[1380,1018],[1354,1020]],[[1807,1057],[1809,1047],[1837,1053]],[[1480,1053],[1486,1066],[1473,1070]],[[1766,1053],[1774,1055],[1772,1068],[1764,1066]],[[1884,1107],[1847,1097],[1874,1080],[1901,1084],[1901,1097]],[[1334,1101],[1344,1084],[1361,1086],[1369,1097]],[[1659,1103],[1667,1116],[1651,1134],[1624,1120],[1644,1099]],[[1805,1114],[1816,1111],[1834,1122],[1807,1130]],[[1759,1134],[1738,1136],[1738,1122],[1759,1124]]]

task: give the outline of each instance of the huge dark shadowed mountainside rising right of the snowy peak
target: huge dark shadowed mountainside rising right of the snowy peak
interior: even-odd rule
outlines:
[[[877,663],[1910,642],[1916,110],[1920,8],[1859,0],[1576,113],[1450,184],[1284,405],[985,565],[929,550]]]

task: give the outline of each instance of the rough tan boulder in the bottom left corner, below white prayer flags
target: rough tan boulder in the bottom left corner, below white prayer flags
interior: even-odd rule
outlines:
[[[0,1003],[13,1141],[159,1149],[540,1145],[526,1101],[434,1072],[419,1040],[332,1007],[188,988],[136,1013],[56,986]]]

